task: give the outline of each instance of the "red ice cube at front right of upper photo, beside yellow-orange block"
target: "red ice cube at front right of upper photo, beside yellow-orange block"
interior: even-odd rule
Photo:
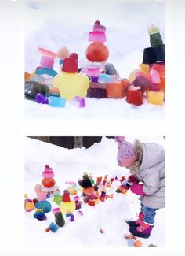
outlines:
[[[132,90],[132,87],[129,87],[126,93],[126,101],[133,105],[139,106],[143,104],[143,94],[141,89],[137,90],[137,87],[135,88],[136,90]]]

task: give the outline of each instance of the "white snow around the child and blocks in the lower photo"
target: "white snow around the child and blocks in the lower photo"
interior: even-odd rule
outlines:
[[[165,147],[163,137],[127,137],[133,142],[140,139],[142,142],[155,142]],[[93,178],[108,175],[108,178],[128,176],[129,171],[119,167],[116,161],[117,145],[114,139],[103,137],[100,143],[95,143],[89,149],[76,148],[68,150],[53,144],[43,143],[36,139],[25,140],[25,193],[29,198],[35,198],[34,186],[41,184],[42,171],[45,165],[53,168],[56,184],[60,191],[69,185],[67,180],[77,182],[86,171],[93,173]],[[113,182],[113,188],[108,193],[114,193],[114,198],[107,198],[95,207],[82,203],[83,216],[74,213],[74,221],[66,219],[66,224],[56,233],[45,232],[45,228],[54,221],[52,213],[46,213],[47,220],[34,219],[34,210],[25,213],[25,244],[34,247],[127,247],[124,235],[129,233],[126,220],[136,219],[140,211],[138,196],[128,191],[127,195],[115,193],[120,183]],[[82,193],[78,191],[78,195]],[[71,199],[73,196],[71,196]],[[57,207],[51,202],[53,207]],[[100,228],[104,233],[100,233]],[[35,239],[37,238],[37,239]],[[140,239],[140,238],[139,238]],[[148,239],[140,239],[143,247],[153,243],[158,247],[165,247],[165,209],[158,210],[155,218],[155,227]]]

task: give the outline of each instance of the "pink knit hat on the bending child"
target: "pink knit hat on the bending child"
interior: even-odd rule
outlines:
[[[116,137],[118,143],[117,161],[122,167],[129,167],[138,159],[138,152],[134,144],[125,140],[125,137]]]

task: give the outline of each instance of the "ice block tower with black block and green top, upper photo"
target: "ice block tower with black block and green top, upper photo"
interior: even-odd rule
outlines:
[[[151,25],[148,32],[151,46],[143,50],[140,69],[130,73],[131,86],[126,92],[126,101],[136,106],[143,104],[144,97],[155,105],[162,105],[165,100],[165,44],[157,26]]]

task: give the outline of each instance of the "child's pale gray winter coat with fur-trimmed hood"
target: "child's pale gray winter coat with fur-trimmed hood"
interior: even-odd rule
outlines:
[[[139,153],[139,163],[131,168],[136,179],[143,182],[140,196],[144,206],[150,208],[165,207],[165,150],[156,143],[135,141]]]

